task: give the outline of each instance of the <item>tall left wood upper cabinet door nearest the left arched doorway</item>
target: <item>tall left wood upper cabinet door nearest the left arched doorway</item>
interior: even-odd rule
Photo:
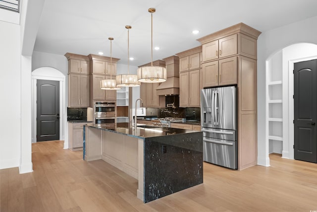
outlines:
[[[68,74],[68,106],[80,106],[80,74]]]

